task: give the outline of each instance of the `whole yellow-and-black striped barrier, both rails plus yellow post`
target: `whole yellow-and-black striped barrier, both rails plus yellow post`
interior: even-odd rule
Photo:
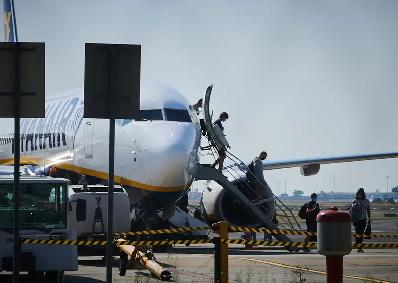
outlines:
[[[116,246],[152,246],[152,245],[194,245],[194,244],[214,244],[214,281],[218,283],[228,282],[229,277],[229,244],[243,244],[243,245],[262,245],[262,246],[280,246],[280,247],[317,247],[316,242],[304,243],[304,242],[278,242],[278,241],[253,241],[251,239],[235,240],[229,239],[230,232],[261,232],[271,234],[290,234],[290,235],[317,235],[317,233],[301,232],[301,231],[288,231],[288,230],[268,230],[268,229],[256,229],[249,227],[231,227],[228,222],[222,221],[212,225],[212,227],[191,227],[191,228],[176,228],[176,229],[161,229],[161,230],[150,230],[150,231],[137,231],[137,232],[125,232],[125,233],[114,233],[114,235],[153,235],[153,234],[170,234],[179,233],[186,231],[197,231],[211,229],[213,233],[218,234],[218,237],[212,239],[201,239],[201,240],[144,240],[144,241],[130,241],[130,240],[114,240],[113,245]],[[106,235],[106,234],[92,234],[94,235]],[[364,237],[364,238],[396,238],[398,235],[352,235],[353,237]],[[84,246],[105,246],[107,241],[79,241],[79,240],[49,240],[40,239],[48,237],[48,235],[35,236],[34,238],[20,238],[22,244],[45,244],[45,245],[84,245]],[[398,249],[397,243],[362,243],[362,244],[351,244],[352,249],[361,247],[363,249]]]

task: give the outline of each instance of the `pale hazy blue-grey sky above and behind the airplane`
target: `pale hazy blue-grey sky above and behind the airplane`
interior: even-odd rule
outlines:
[[[141,76],[211,109],[244,162],[398,151],[398,2],[15,0],[20,41],[46,43],[46,96],[84,83],[84,43],[141,44]],[[2,31],[3,32],[3,31]],[[213,160],[203,157],[202,162]],[[397,159],[265,171],[277,193],[398,185]],[[198,185],[203,187],[201,183]]]

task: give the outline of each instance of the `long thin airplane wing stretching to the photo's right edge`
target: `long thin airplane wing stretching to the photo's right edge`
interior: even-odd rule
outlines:
[[[282,168],[300,167],[309,164],[333,164],[353,161],[375,160],[397,158],[398,152],[373,153],[373,154],[355,154],[328,157],[312,157],[312,158],[292,158],[288,160],[263,161],[264,170],[275,170]]]

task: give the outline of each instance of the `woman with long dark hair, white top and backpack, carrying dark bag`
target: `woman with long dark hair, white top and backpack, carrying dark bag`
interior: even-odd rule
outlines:
[[[363,235],[367,225],[371,223],[371,202],[366,198],[365,190],[360,188],[356,193],[356,197],[350,206],[350,215],[354,223],[355,234]],[[355,237],[355,244],[361,244],[363,237]],[[361,247],[357,249],[358,253],[363,253]]]

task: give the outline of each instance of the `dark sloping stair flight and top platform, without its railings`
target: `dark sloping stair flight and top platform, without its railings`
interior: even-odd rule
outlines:
[[[253,205],[253,203],[243,194],[233,183],[229,182],[229,180],[222,174],[222,172],[217,169],[210,167],[211,164],[201,164],[198,172],[196,174],[196,180],[214,180],[220,186],[224,187],[227,192],[232,194],[236,199],[241,200],[246,209],[248,209],[249,213],[260,223],[263,224],[264,227],[271,230],[279,230],[279,228],[271,221],[270,217],[263,213],[257,206]],[[273,235],[278,241],[281,242],[291,242],[287,235],[283,234],[274,234]],[[298,248],[286,247],[288,251],[298,252]]]

